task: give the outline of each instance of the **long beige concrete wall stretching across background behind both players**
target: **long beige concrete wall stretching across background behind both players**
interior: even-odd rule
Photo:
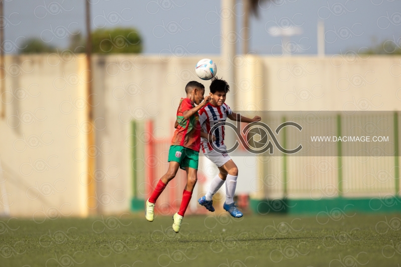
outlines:
[[[97,169],[89,170],[84,151],[92,128],[85,128],[84,55],[7,57],[8,93],[2,96],[6,116],[0,120],[4,176],[0,209],[9,209],[15,216],[36,216],[40,210],[49,218],[85,216],[88,190],[83,177],[90,172],[97,180],[98,211],[128,210],[132,195],[130,121],[153,120],[153,137],[169,142],[179,99],[185,97],[184,86],[199,80],[193,66],[200,58],[227,66],[222,63],[225,59],[210,55],[93,57]],[[237,56],[235,62],[236,80],[231,83],[236,83],[237,92],[235,103],[228,104],[236,110],[396,110],[401,104],[397,57]],[[219,69],[218,74],[224,78],[228,68]],[[209,88],[210,82],[203,84]],[[11,90],[17,89],[22,94],[13,96]]]

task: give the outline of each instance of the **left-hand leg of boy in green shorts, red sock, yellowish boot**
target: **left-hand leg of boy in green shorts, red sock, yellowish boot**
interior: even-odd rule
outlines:
[[[153,190],[149,199],[146,200],[145,218],[148,221],[153,221],[154,205],[156,203],[156,200],[160,196],[161,192],[163,192],[164,188],[166,188],[167,183],[175,177],[178,171],[181,163],[181,154],[183,148],[184,147],[181,146],[170,146],[170,149],[168,151],[168,161],[170,162],[168,165],[168,170],[158,181],[156,188]]]

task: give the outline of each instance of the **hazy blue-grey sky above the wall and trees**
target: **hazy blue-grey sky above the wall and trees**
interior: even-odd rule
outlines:
[[[186,56],[219,54],[221,6],[219,0],[90,0],[91,27],[134,27],[143,39],[145,54]],[[41,38],[67,48],[69,38],[85,32],[82,0],[5,0],[5,49],[17,53],[22,41]],[[317,53],[317,23],[325,29],[325,53],[363,51],[385,40],[401,37],[400,0],[276,0],[260,2],[259,16],[250,23],[250,51],[280,54],[281,44],[291,41],[293,53]],[[238,52],[241,39],[242,2],[237,1]],[[272,35],[271,27],[298,29],[284,39]]]

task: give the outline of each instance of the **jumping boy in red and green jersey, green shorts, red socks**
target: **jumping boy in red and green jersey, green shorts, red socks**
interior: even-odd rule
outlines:
[[[193,188],[197,180],[197,166],[200,148],[200,124],[197,111],[210,101],[210,96],[204,100],[205,86],[196,81],[191,81],[185,86],[186,98],[181,98],[177,109],[176,130],[171,140],[168,152],[168,170],[164,174],[152,195],[146,201],[145,217],[148,221],[154,219],[154,205],[167,183],[172,180],[178,168],[186,171],[187,182],[182,194],[179,211],[173,215],[172,228],[179,231],[185,210],[192,196]],[[202,102],[203,101],[203,102]],[[202,103],[201,103],[202,102]],[[195,104],[197,106],[195,106]]]

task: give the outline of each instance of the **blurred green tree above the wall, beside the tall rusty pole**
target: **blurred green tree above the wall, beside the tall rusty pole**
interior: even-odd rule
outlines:
[[[81,34],[72,35],[70,50],[85,53],[85,39]],[[133,28],[99,29],[92,32],[92,53],[141,53],[142,39]]]

